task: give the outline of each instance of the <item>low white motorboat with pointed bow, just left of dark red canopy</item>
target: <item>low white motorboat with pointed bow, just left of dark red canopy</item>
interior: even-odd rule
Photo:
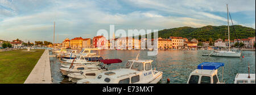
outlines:
[[[86,65],[86,64],[75,64],[75,65],[72,65],[72,67],[70,65],[67,65],[67,66],[68,67],[60,68],[60,72],[65,76],[67,76],[69,73],[76,73],[76,72],[83,71],[85,69],[101,68],[100,66],[97,66],[97,65]]]

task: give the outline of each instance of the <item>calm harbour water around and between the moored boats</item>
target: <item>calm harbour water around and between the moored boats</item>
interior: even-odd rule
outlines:
[[[147,50],[101,50],[93,51],[101,55],[104,59],[121,59],[122,63],[107,65],[109,69],[117,69],[129,59],[135,59],[140,54],[139,59],[154,60],[152,67],[163,72],[162,83],[165,83],[167,78],[170,79],[170,84],[185,84],[189,74],[196,69],[197,65],[202,62],[219,62],[225,63],[224,81],[228,84],[234,83],[236,73],[248,73],[247,64],[250,64],[250,73],[255,73],[255,51],[242,51],[242,57],[215,57],[201,56],[208,54],[208,50],[198,51],[158,51],[156,56],[147,56]],[[53,82],[59,83],[64,80],[59,70],[60,62],[56,57],[51,57],[51,72]],[[218,78],[222,79],[222,68],[218,69]]]

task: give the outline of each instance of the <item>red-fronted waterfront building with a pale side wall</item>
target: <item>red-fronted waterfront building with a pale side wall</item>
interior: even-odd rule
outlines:
[[[106,48],[106,38],[104,36],[94,36],[93,47],[98,49]]]

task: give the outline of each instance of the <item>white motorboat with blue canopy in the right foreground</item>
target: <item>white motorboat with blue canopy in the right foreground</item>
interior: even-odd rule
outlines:
[[[197,65],[197,69],[190,73],[187,84],[221,84],[217,76],[218,68],[224,67],[224,63],[204,62]],[[222,68],[222,81],[223,81]]]

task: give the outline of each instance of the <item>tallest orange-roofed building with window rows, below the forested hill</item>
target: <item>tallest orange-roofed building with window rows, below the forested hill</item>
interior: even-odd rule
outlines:
[[[181,49],[182,47],[184,47],[184,39],[182,37],[170,36],[169,39],[172,42],[173,48]]]

